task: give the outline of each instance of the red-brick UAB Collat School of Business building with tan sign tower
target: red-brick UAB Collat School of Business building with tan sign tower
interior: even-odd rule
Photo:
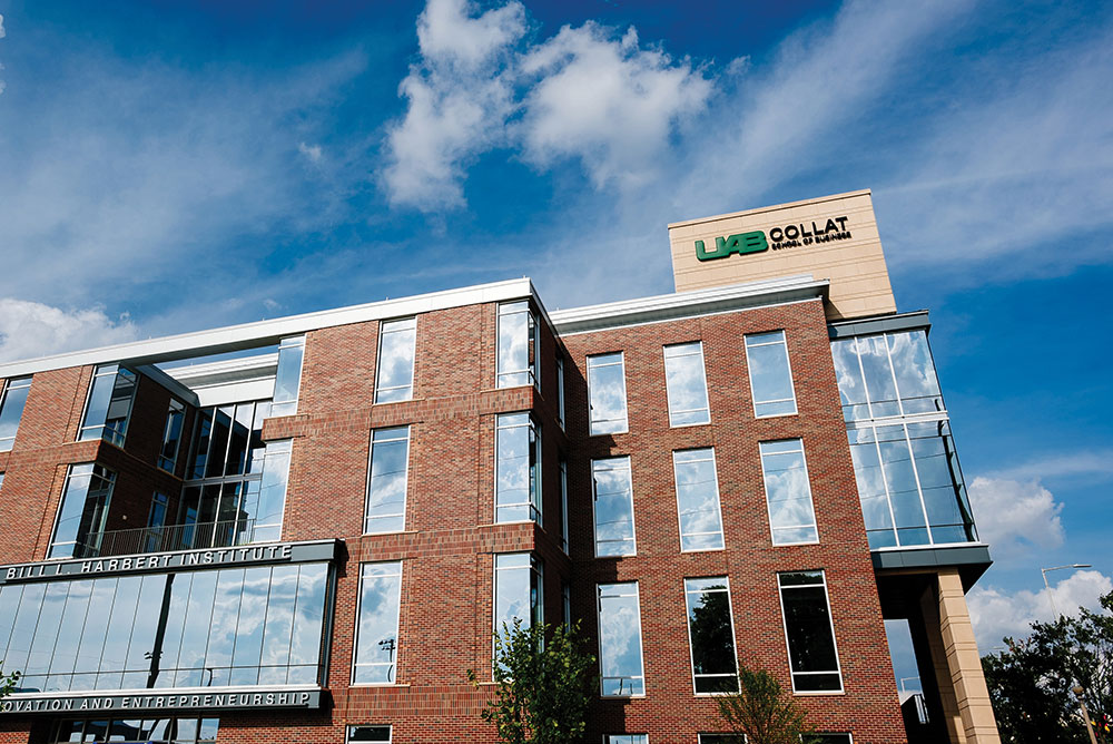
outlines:
[[[514,618],[597,644],[588,741],[728,741],[739,662],[828,742],[998,741],[988,551],[869,193],[669,232],[674,294],[515,280],[0,365],[0,742],[493,742]]]

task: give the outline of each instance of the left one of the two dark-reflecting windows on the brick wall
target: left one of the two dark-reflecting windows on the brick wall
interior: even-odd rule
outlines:
[[[737,693],[735,618],[727,577],[684,579],[696,694]]]

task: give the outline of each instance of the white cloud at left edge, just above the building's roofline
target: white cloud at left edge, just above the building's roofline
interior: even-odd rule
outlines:
[[[114,321],[99,307],[65,311],[39,302],[0,298],[0,361],[107,346],[137,337],[138,329],[128,317]]]

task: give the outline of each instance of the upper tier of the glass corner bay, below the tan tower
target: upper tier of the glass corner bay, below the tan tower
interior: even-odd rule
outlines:
[[[847,421],[944,411],[927,331],[900,331],[831,342]]]

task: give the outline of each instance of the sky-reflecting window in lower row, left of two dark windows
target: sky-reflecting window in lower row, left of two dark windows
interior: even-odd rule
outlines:
[[[637,581],[599,585],[599,668],[603,697],[646,694]]]

